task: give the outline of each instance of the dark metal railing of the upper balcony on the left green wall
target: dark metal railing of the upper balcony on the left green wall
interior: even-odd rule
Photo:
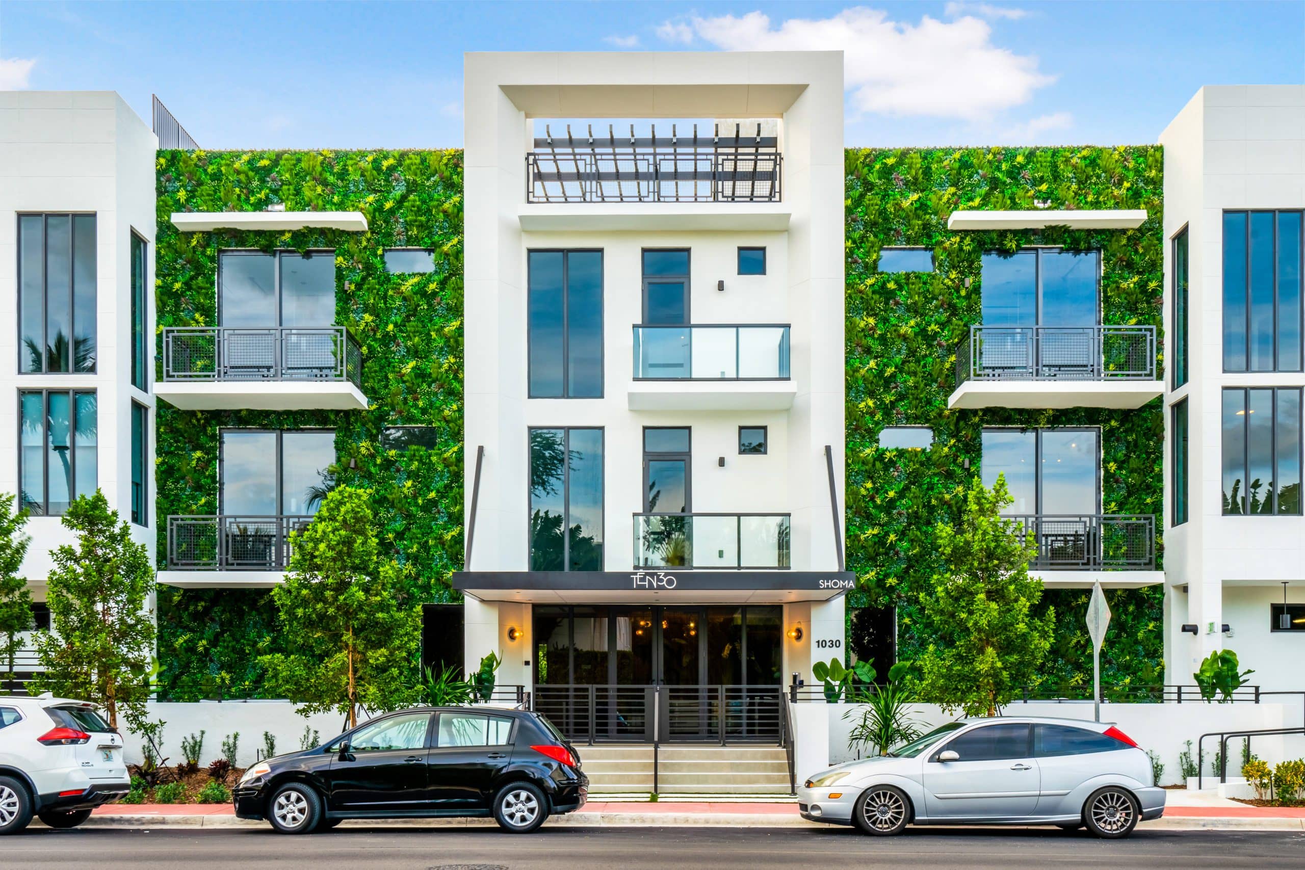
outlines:
[[[343,326],[168,326],[164,381],[350,381],[363,386],[363,352]]]

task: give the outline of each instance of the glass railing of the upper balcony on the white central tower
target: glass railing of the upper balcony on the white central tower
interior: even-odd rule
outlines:
[[[636,326],[637,381],[787,381],[787,323]]]

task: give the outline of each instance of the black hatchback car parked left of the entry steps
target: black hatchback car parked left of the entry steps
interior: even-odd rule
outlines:
[[[330,742],[254,764],[232,793],[236,815],[282,833],[345,819],[492,815],[534,831],[585,805],[589,777],[552,723],[522,710],[415,707]]]

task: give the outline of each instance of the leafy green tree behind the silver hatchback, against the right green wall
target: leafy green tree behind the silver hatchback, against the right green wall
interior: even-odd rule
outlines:
[[[975,481],[955,526],[934,527],[942,569],[921,601],[929,646],[920,691],[946,711],[994,716],[1032,682],[1051,647],[1054,610],[1034,607],[1043,584],[1028,577],[1036,544],[1015,520],[1004,476],[989,490]]]

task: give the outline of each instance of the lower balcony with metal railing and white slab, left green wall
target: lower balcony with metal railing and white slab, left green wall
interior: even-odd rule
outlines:
[[[275,586],[290,566],[291,532],[312,517],[167,518],[167,567],[159,582],[192,588]]]

